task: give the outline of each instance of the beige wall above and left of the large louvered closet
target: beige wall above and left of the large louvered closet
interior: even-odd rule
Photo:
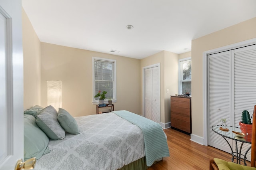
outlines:
[[[256,38],[256,18],[192,40],[192,134],[203,137],[203,52]]]

